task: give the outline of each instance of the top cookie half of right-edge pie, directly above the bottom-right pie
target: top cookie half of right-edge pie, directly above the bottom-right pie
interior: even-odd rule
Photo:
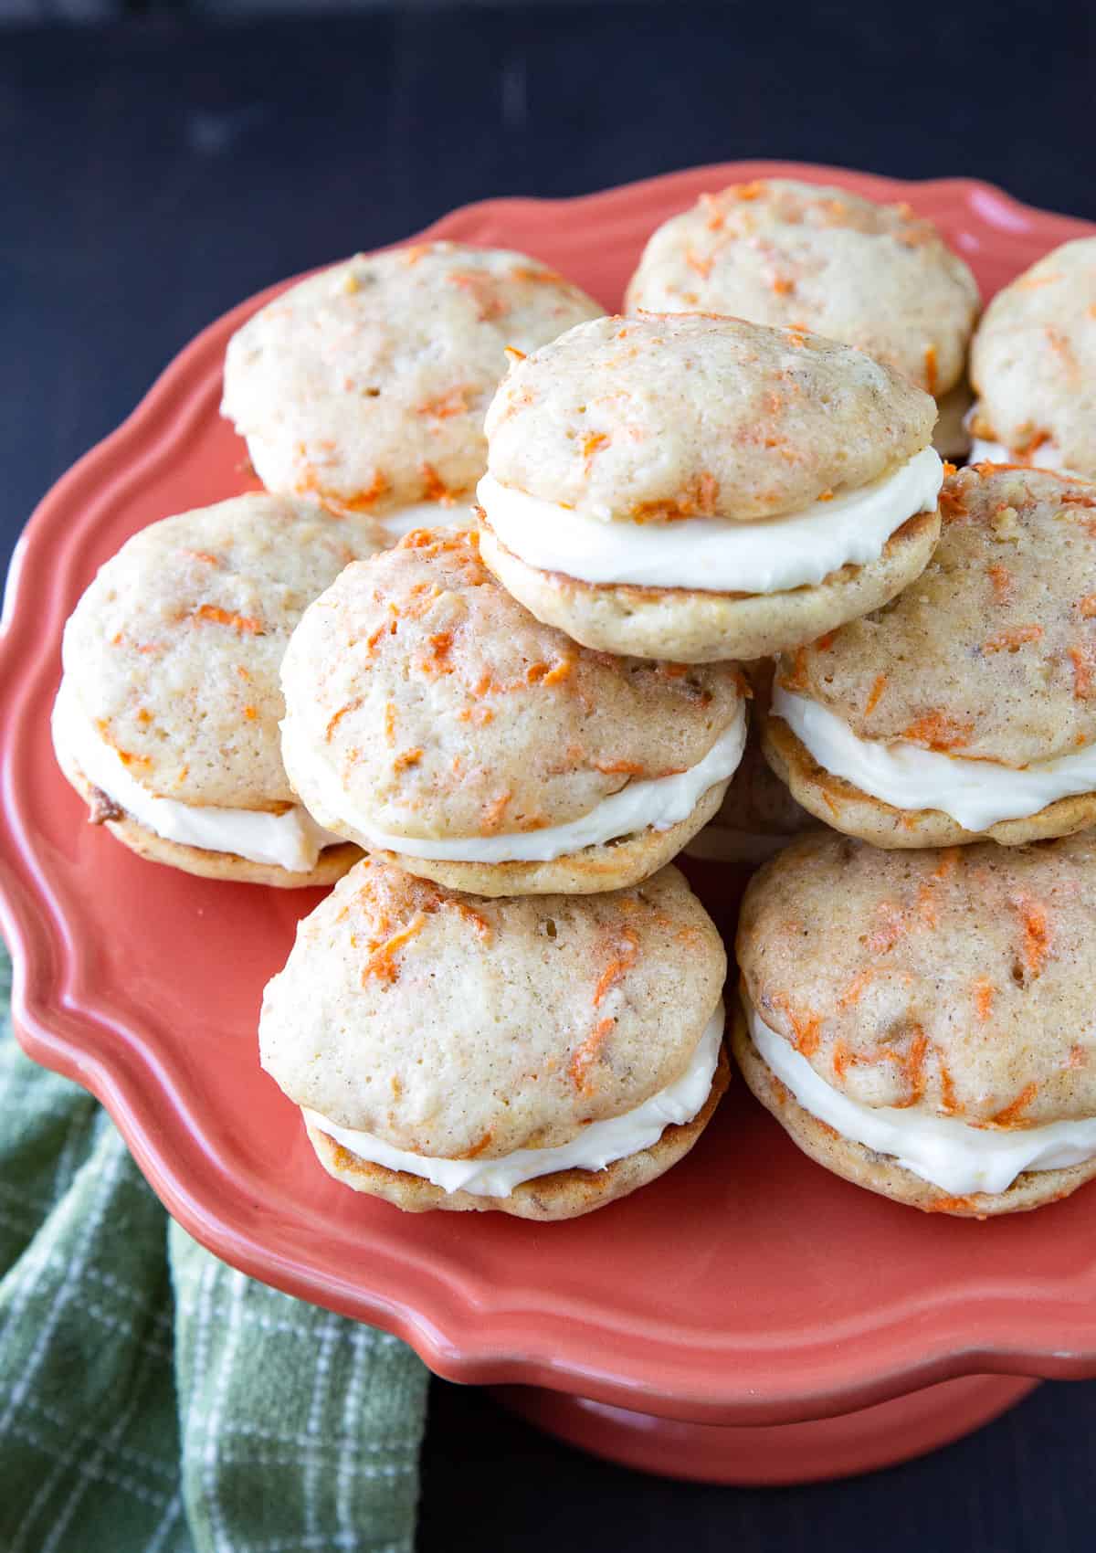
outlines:
[[[976,464],[941,511],[916,582],[779,682],[862,739],[1017,767],[1096,742],[1096,485]]]

